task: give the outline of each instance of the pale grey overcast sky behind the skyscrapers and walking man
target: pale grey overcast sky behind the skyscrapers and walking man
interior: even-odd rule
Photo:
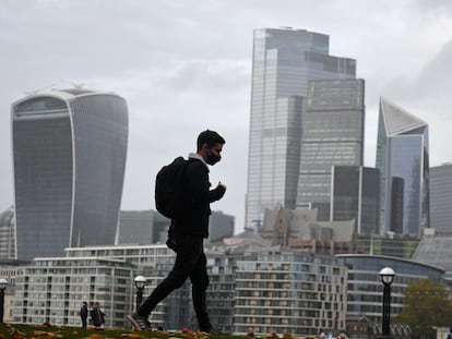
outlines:
[[[374,165],[384,96],[430,128],[430,164],[452,160],[450,0],[1,0],[0,211],[13,204],[11,104],[43,88],[115,92],[129,107],[122,209],[154,208],[157,170],[226,138],[211,181],[215,210],[242,230],[252,34],[292,26],[330,35],[330,53],[357,60],[366,81],[366,166]]]

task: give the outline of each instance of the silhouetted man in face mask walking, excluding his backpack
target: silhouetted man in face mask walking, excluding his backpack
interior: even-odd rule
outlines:
[[[128,316],[136,330],[151,329],[147,320],[151,312],[190,278],[199,328],[201,331],[212,331],[205,304],[209,276],[203,240],[209,237],[210,204],[223,197],[226,186],[218,183],[215,189],[210,189],[207,165],[213,166],[222,159],[221,153],[225,143],[214,131],[207,130],[198,136],[197,153],[189,155],[182,181],[182,192],[190,208],[183,215],[171,219],[168,244],[176,252],[176,262],[168,277],[155,288],[136,312]]]

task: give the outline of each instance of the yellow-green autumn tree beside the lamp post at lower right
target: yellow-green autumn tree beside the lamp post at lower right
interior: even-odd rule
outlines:
[[[445,286],[429,279],[409,282],[404,307],[394,323],[409,325],[413,337],[436,338],[433,327],[452,323],[452,301]]]

